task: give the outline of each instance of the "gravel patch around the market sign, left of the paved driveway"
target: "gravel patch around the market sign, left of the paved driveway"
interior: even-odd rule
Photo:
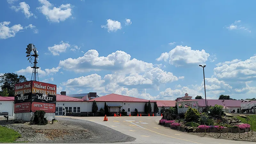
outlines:
[[[31,143],[113,143],[135,140],[131,136],[106,126],[85,120],[58,117],[57,122],[47,125],[34,125],[22,121],[19,121],[19,124],[16,123],[15,120],[10,120],[9,123],[0,120],[0,125],[21,134],[21,138],[16,141]]]

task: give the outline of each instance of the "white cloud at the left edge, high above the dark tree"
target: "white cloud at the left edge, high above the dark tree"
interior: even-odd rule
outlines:
[[[10,21],[0,22],[0,39],[14,37],[16,33],[23,29],[20,24],[8,27],[10,23]]]

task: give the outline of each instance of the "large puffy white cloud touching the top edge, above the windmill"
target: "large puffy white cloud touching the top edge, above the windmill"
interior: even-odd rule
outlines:
[[[48,21],[59,23],[60,21],[64,21],[72,16],[71,4],[61,4],[59,7],[53,7],[53,4],[47,0],[38,1],[42,6],[37,7],[36,9],[43,13]]]

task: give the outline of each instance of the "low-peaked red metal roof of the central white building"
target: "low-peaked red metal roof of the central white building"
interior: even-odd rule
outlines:
[[[119,95],[119,94],[108,94],[99,98],[91,99],[88,101],[109,101],[109,102],[148,102],[148,100]],[[155,102],[153,100],[150,100],[150,102]]]

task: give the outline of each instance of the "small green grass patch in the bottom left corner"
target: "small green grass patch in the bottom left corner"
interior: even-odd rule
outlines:
[[[0,126],[0,143],[14,143],[19,137],[21,137],[19,132]]]

